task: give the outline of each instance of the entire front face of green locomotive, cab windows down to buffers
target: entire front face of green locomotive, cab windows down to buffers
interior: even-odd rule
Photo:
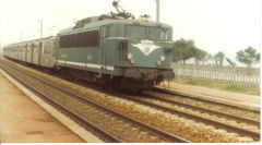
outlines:
[[[126,85],[151,88],[164,80],[175,77],[170,69],[172,28],[168,25],[144,22],[138,25],[118,25],[123,37],[117,43],[118,57]],[[114,26],[111,27],[114,28]],[[115,29],[115,32],[118,32]]]

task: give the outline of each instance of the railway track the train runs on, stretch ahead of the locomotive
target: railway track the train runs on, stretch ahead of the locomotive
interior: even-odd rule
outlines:
[[[247,124],[246,123],[243,124],[239,122],[239,117],[230,114],[224,116],[224,113],[216,113],[212,110],[192,107],[186,104],[178,104],[175,101],[162,99],[150,95],[145,95],[143,97],[142,95],[140,96],[122,95],[122,98],[130,99],[132,101],[143,104],[145,106],[163,110],[171,114],[177,114],[179,117],[191,119],[196,122],[202,122],[206,125],[213,125],[215,129],[223,129],[229,133],[234,132],[241,136],[249,136],[252,137],[254,141],[260,140],[260,125],[255,121],[240,118],[241,121],[248,122]],[[222,121],[222,118],[227,119],[226,120],[224,119],[225,121]],[[230,118],[230,120],[228,120],[228,118]]]

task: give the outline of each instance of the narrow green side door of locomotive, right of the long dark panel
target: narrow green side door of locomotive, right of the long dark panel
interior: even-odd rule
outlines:
[[[100,51],[99,51],[99,64],[102,65],[102,70],[105,69],[106,65],[106,37],[107,37],[107,26],[103,26],[100,29]]]

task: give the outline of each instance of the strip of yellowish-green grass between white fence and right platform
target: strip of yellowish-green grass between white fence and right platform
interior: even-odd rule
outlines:
[[[242,93],[242,94],[248,94],[248,95],[260,96],[260,88],[249,87],[249,86],[214,83],[214,82],[209,82],[209,81],[180,80],[180,78],[175,78],[174,82],[180,83],[180,84],[187,84],[187,85],[195,85],[195,86],[216,88],[216,89],[222,89],[222,90],[226,90],[226,92]]]

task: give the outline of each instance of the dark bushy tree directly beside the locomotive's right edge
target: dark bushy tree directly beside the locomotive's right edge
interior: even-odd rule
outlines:
[[[183,38],[176,40],[172,45],[172,61],[183,61],[193,57],[193,50],[196,49],[193,40],[186,40]]]

